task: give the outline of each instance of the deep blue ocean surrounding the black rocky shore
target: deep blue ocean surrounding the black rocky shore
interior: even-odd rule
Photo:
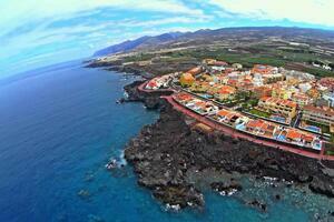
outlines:
[[[126,143],[158,112],[117,104],[134,80],[80,61],[39,69],[0,83],[0,221],[316,221],[333,200],[272,188],[245,176],[244,194],[205,193],[203,210],[167,211],[138,186],[131,165],[108,171]],[[283,199],[272,196],[279,193]],[[267,212],[242,199],[261,196]],[[332,220],[334,218],[327,218]]]

